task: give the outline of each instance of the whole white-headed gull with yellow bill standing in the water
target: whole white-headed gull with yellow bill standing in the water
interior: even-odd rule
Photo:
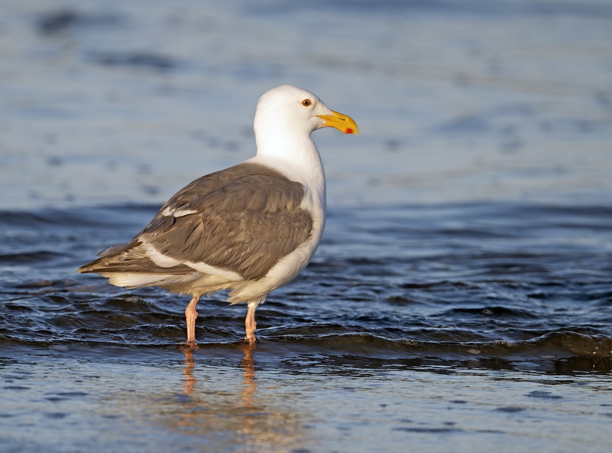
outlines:
[[[116,286],[191,295],[185,318],[192,345],[200,296],[230,289],[231,304],[248,305],[245,339],[255,343],[255,309],[306,267],[323,234],[325,174],[310,137],[323,127],[359,132],[307,90],[270,90],[255,113],[255,157],[188,184],[132,241],[78,271]]]

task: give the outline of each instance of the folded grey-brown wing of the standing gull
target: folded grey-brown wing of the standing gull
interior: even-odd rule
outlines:
[[[159,273],[193,272],[185,263],[205,263],[258,279],[307,240],[312,217],[300,208],[303,197],[304,187],[277,171],[239,164],[185,186],[132,242],[107,249],[112,256],[97,262],[106,260],[106,272],[138,273],[140,263],[141,272],[151,273],[157,265],[143,253],[146,244],[176,260],[158,266]]]

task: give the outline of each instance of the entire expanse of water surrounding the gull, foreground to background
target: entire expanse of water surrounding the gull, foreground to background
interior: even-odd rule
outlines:
[[[2,451],[604,452],[608,2],[9,1],[0,16]],[[253,153],[312,89],[313,262],[257,311],[76,268]]]

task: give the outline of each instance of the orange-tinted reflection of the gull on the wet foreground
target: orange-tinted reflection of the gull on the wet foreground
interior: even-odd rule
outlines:
[[[239,383],[236,367],[198,366],[198,357],[204,361],[207,351],[213,352],[212,349],[183,348],[182,393],[173,398],[180,405],[171,410],[174,414],[164,411],[171,415],[166,424],[195,436],[196,443],[201,438],[211,447],[210,451],[239,446],[245,451],[280,453],[304,446],[305,421],[291,404],[295,396],[284,395],[279,390],[282,383],[274,380],[263,381],[258,388],[255,348],[250,344],[239,347],[243,355],[239,361],[242,368]],[[225,348],[220,352],[228,356]]]

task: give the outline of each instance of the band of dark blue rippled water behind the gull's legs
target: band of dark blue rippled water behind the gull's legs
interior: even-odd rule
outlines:
[[[187,296],[74,273],[154,214],[147,206],[2,213],[4,341],[182,341]],[[507,203],[332,210],[313,262],[258,309],[258,336],[313,350],[371,348],[379,359],[588,356],[606,370],[611,217],[605,207]],[[220,294],[198,311],[200,341],[240,341],[243,306]]]

